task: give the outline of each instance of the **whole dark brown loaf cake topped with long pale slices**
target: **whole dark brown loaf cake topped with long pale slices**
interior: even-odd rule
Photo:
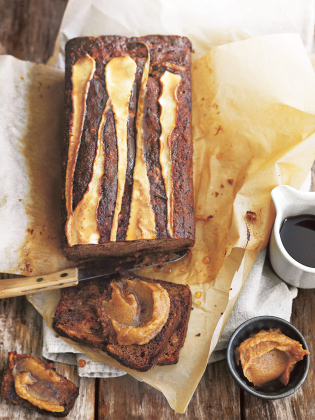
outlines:
[[[194,243],[190,41],[79,37],[65,47],[61,235],[70,259]]]

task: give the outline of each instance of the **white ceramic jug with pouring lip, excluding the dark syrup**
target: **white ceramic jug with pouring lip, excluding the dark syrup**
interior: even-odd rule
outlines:
[[[315,192],[299,191],[288,185],[279,185],[272,189],[271,198],[276,211],[269,242],[271,265],[286,283],[301,288],[313,288],[315,268],[297,262],[287,253],[280,239],[280,228],[287,217],[299,214],[315,215]]]

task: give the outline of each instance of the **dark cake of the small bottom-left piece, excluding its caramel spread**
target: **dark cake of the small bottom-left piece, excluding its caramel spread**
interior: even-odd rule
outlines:
[[[27,399],[20,398],[17,393],[15,392],[14,387],[14,378],[12,375],[12,369],[16,362],[22,358],[29,357],[35,360],[37,363],[44,366],[46,369],[53,369],[52,363],[44,363],[39,358],[32,356],[31,354],[17,354],[16,351],[11,351],[8,353],[7,358],[7,364],[5,366],[4,372],[3,372],[3,378],[1,382],[1,388],[0,393],[1,396],[6,399],[9,403],[21,405],[22,407],[26,407],[29,409],[36,410],[40,412],[41,414],[45,415],[52,415],[54,417],[65,417],[70,409],[73,407],[73,404],[75,402],[76,397],[79,394],[78,388],[70,382],[68,379],[66,379],[64,376],[61,376],[59,373],[57,375],[62,378],[60,386],[61,392],[60,392],[60,398],[62,398],[59,402],[60,405],[64,407],[63,412],[52,412],[44,409],[40,409],[36,407],[36,405],[33,405]],[[54,369],[53,369],[54,370]]]

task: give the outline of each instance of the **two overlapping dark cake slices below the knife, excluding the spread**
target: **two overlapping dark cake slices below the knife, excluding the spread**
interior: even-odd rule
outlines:
[[[113,323],[104,311],[106,302],[113,298],[113,284],[118,285],[122,291],[127,282],[141,282],[141,289],[145,288],[143,283],[157,285],[158,288],[166,290],[169,297],[169,311],[165,323],[156,335],[142,344],[119,343]],[[141,302],[140,292],[131,290],[132,293],[135,293],[135,299],[139,303],[139,313],[145,310],[150,312],[149,321],[145,325],[152,323],[150,317],[154,310],[148,310],[148,303]],[[126,301],[127,294],[122,292]],[[117,302],[113,303],[116,309]],[[140,277],[120,270],[119,275],[114,277],[82,281],[77,286],[63,289],[52,326],[61,336],[99,348],[126,367],[146,371],[155,364],[177,363],[179,350],[186,336],[190,309],[191,292],[188,286]],[[158,316],[159,314],[157,311]],[[146,334],[145,332],[142,335],[145,337]]]

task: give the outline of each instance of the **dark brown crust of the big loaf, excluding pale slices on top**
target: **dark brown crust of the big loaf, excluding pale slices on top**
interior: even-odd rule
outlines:
[[[160,107],[158,97],[160,94],[159,77],[167,69],[173,73],[180,74],[180,84],[177,97],[178,109],[176,127],[171,136],[172,161],[173,161],[173,185],[174,185],[174,216],[173,216],[173,238],[163,242],[164,253],[169,252],[174,246],[178,249],[188,248],[194,243],[194,219],[193,187],[192,187],[192,139],[191,139],[191,97],[190,97],[190,51],[191,44],[185,37],[147,35],[140,38],[126,38],[122,36],[100,36],[74,38],[67,42],[65,48],[65,117],[64,117],[64,142],[62,147],[62,192],[61,192],[61,241],[62,249],[68,258],[86,257],[86,252],[92,256],[105,256],[111,254],[122,255],[127,252],[117,246],[118,241],[124,241],[132,191],[132,170],[134,162],[134,137],[135,126],[133,115],[135,113],[136,97],[142,75],[142,69],[147,57],[146,47],[150,51],[149,77],[146,87],[144,104],[144,149],[147,163],[147,174],[150,183],[150,195],[152,208],[155,215],[157,238],[167,238],[166,231],[166,199],[161,168],[159,164],[159,135],[160,135]],[[126,172],[126,183],[122,198],[121,212],[118,218],[117,242],[109,241],[113,209],[117,188],[117,166],[116,155],[117,145],[115,140],[115,129],[112,122],[105,126],[106,138],[106,161],[105,172],[102,177],[102,196],[98,208],[98,232],[100,233],[99,243],[105,246],[93,244],[67,246],[64,233],[66,221],[66,210],[64,202],[64,180],[67,160],[67,148],[69,141],[69,124],[72,113],[71,103],[71,67],[82,55],[88,53],[96,61],[96,70],[90,82],[91,93],[87,98],[87,111],[84,118],[83,135],[77,163],[73,177],[73,209],[82,198],[87,183],[91,176],[91,165],[95,155],[95,144],[97,129],[101,112],[107,100],[104,81],[104,67],[114,56],[129,54],[137,63],[136,82],[133,95],[129,104],[128,121],[128,163]],[[105,134],[104,134],[105,137]],[[105,148],[106,148],[105,147]],[[113,159],[109,160],[109,156]],[[109,163],[108,163],[109,162]],[[177,239],[179,242],[176,244]],[[140,249],[142,240],[137,241],[135,251]],[[126,242],[124,242],[126,243]],[[127,242],[129,247],[129,241]],[[157,245],[157,242],[155,242]],[[107,246],[106,246],[107,245]],[[152,244],[154,248],[155,245]],[[91,251],[92,248],[92,251]],[[132,246],[131,246],[132,248]],[[134,248],[134,247],[133,247]],[[130,251],[129,251],[130,252]]]

